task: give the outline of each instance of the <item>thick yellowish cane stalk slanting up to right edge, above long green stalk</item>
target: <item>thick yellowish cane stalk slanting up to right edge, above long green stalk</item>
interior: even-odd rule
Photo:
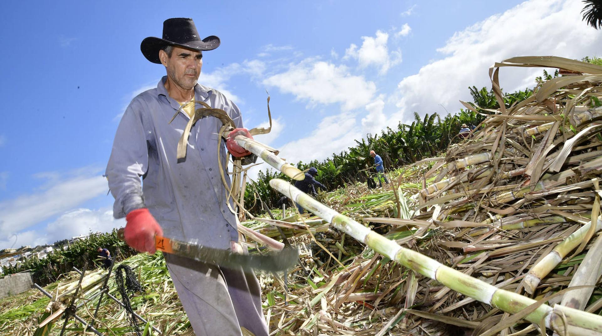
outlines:
[[[523,286],[527,293],[533,294],[535,288],[537,288],[539,282],[541,282],[541,279],[545,278],[545,276],[547,276],[548,273],[550,273],[550,271],[566,257],[568,252],[571,252],[571,250],[579,246],[591,225],[592,221],[590,220],[586,225],[583,225],[577,231],[573,232],[573,234],[566,237],[565,240],[557,244],[549,254],[539,261],[539,263],[531,267],[529,273],[527,273],[523,279]],[[600,231],[601,228],[602,220],[598,219],[595,231]]]

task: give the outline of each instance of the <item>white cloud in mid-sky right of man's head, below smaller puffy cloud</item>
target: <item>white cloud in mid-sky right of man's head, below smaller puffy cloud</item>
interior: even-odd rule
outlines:
[[[343,111],[364,107],[376,93],[374,82],[351,75],[346,66],[317,58],[290,64],[287,71],[264,79],[263,84],[278,87],[310,105],[340,103]]]

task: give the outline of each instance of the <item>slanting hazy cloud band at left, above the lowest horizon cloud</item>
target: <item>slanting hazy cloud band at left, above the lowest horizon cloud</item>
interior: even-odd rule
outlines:
[[[0,201],[0,238],[23,231],[96,196],[107,193],[107,180],[93,173],[52,176],[41,190]],[[39,175],[40,176],[40,175]],[[4,237],[2,237],[4,236]]]

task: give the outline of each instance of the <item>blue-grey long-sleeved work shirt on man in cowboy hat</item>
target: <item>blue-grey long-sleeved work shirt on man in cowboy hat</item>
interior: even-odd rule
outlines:
[[[213,116],[198,120],[190,130],[186,158],[178,162],[178,141],[190,117],[180,112],[169,123],[180,105],[168,95],[166,79],[132,99],[117,128],[106,172],[115,198],[113,216],[122,218],[147,207],[166,237],[229,249],[238,231],[217,162],[219,151],[226,168],[226,149],[219,137],[222,122]],[[197,101],[226,111],[243,127],[237,105],[221,92],[197,84],[194,94]]]

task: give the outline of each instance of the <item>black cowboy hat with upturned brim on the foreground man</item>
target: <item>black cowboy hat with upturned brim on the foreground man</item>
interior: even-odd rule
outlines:
[[[179,46],[197,51],[213,50],[220,46],[220,38],[208,36],[200,39],[192,19],[174,17],[163,22],[163,39],[147,37],[140,43],[140,51],[147,60],[161,64],[159,51],[166,46]]]

